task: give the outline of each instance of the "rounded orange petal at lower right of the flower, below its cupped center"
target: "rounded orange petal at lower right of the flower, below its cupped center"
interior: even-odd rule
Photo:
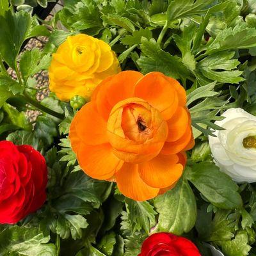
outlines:
[[[176,154],[159,154],[152,160],[139,164],[140,177],[153,188],[172,186],[183,172],[183,166],[178,161],[179,157]]]

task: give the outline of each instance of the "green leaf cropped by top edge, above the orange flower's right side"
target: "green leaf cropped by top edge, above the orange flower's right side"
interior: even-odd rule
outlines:
[[[167,10],[168,22],[191,17],[196,14],[204,14],[212,4],[212,0],[169,0]]]

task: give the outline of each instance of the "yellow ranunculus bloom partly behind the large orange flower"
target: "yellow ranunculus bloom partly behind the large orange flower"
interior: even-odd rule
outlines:
[[[75,95],[88,99],[102,79],[120,71],[115,52],[104,41],[84,34],[68,36],[52,54],[50,90],[60,100]]]

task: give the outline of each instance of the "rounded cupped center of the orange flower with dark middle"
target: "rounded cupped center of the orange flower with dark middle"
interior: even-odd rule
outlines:
[[[156,157],[168,134],[161,113],[140,98],[118,102],[109,115],[107,129],[114,154],[130,163]]]

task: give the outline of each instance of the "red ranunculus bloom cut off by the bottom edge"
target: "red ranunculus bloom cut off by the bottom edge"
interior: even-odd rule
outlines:
[[[156,233],[142,244],[138,256],[200,256],[190,240],[170,233]]]

